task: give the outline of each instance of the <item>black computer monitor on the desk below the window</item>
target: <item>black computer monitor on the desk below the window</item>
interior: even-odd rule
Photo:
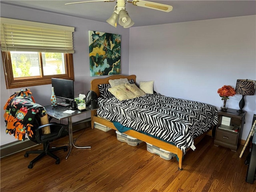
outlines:
[[[66,103],[74,100],[73,80],[52,78],[52,86],[54,87],[54,93],[57,98],[65,99]]]

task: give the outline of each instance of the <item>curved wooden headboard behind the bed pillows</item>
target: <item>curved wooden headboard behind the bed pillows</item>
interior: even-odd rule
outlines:
[[[109,84],[108,80],[110,80],[110,79],[120,79],[120,78],[127,78],[128,80],[133,79],[134,82],[136,82],[136,75],[129,75],[129,76],[111,75],[111,76],[108,76],[106,78],[96,78],[96,79],[91,80],[91,90],[96,92],[96,94],[98,96],[100,96],[100,91],[99,91],[98,85],[100,85],[100,84]]]

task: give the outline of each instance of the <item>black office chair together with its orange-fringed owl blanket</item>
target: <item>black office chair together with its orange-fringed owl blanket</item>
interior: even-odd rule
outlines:
[[[68,135],[66,125],[55,122],[49,123],[50,118],[48,119],[48,116],[46,116],[45,108],[37,104],[31,94],[32,92],[29,89],[22,89],[12,94],[7,100],[4,105],[4,110],[6,110],[4,113],[6,133],[14,134],[18,140],[25,140],[27,135],[33,142],[44,145],[43,150],[27,151],[24,154],[25,157],[28,157],[28,154],[40,154],[30,162],[28,168],[33,168],[33,164],[45,155],[56,159],[55,163],[59,164],[60,159],[52,152],[61,149],[67,151],[68,146],[50,148],[50,142],[60,136]],[[48,132],[42,130],[46,126],[50,127],[50,130],[47,129]]]

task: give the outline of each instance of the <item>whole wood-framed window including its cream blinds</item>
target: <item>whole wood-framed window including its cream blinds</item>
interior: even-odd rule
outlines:
[[[6,88],[74,80],[73,27],[1,18]]]

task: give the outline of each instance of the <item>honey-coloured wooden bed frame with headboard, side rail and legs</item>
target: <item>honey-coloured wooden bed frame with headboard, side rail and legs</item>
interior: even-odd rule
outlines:
[[[119,79],[119,78],[127,78],[128,80],[133,79],[134,82],[136,82],[136,75],[129,75],[129,76],[112,75],[112,76],[108,76],[107,78],[93,79],[91,81],[91,90],[93,90],[94,92],[96,92],[96,94],[98,96],[100,96],[100,92],[99,92],[99,89],[98,89],[99,84],[109,84],[108,80],[110,80],[110,79]],[[97,112],[95,110],[91,112],[91,126],[92,126],[92,129],[94,128],[94,122],[98,122],[102,125],[108,126],[109,128],[117,130],[112,122],[110,122],[109,120],[106,120],[104,118],[98,117]],[[131,137],[137,138],[139,140],[142,140],[144,142],[147,142],[147,143],[150,143],[154,146],[157,146],[158,148],[161,148],[161,149],[164,149],[166,151],[169,151],[169,152],[172,152],[172,153],[176,154],[178,156],[178,159],[179,159],[179,168],[178,169],[182,170],[182,158],[183,158],[184,154],[183,154],[182,150],[180,150],[176,146],[174,146],[172,144],[169,144],[167,142],[164,142],[162,140],[159,140],[157,138],[153,138],[153,137],[148,136],[146,134],[142,134],[142,133],[140,133],[136,130],[128,130],[128,131],[124,132],[124,134],[127,134]],[[202,138],[205,135],[206,135],[206,133],[196,137],[194,139],[194,144],[197,144],[198,142],[200,142],[200,140],[202,140]]]

